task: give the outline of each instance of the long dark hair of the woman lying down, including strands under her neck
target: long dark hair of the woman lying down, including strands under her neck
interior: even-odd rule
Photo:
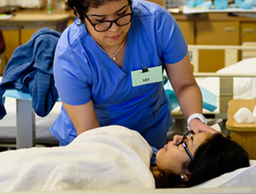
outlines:
[[[192,187],[238,168],[248,167],[249,157],[242,146],[217,133],[196,149],[194,162],[183,166],[192,172],[186,182],[179,176],[152,168],[156,188]]]

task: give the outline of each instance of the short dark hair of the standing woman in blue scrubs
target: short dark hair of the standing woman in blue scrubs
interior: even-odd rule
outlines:
[[[80,20],[84,23],[85,14],[88,12],[89,7],[97,8],[104,5],[106,2],[110,1],[120,1],[120,0],[68,0],[68,6],[74,11],[74,14],[77,16],[77,13],[80,15]],[[128,0],[129,4],[132,4],[132,0]],[[74,9],[76,7],[76,10]]]

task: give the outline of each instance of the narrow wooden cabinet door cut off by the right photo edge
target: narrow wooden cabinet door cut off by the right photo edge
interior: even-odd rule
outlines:
[[[256,23],[241,23],[241,43],[256,42]]]

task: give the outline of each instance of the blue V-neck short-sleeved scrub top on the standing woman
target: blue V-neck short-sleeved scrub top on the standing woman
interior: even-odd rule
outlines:
[[[160,149],[172,124],[163,83],[132,86],[131,71],[173,64],[184,58],[186,41],[164,8],[134,0],[123,67],[118,67],[76,20],[58,42],[53,71],[60,99],[71,105],[93,100],[100,126],[121,125],[138,131]],[[62,107],[50,128],[60,145],[70,143],[76,130]]]

